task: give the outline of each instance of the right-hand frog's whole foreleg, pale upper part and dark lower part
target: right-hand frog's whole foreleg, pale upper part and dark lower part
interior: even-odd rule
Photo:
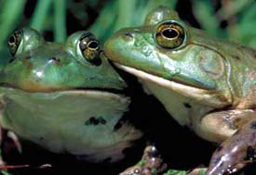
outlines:
[[[211,124],[207,124],[206,121]],[[215,123],[215,130],[212,123]],[[206,126],[209,125],[211,127],[207,128]],[[227,138],[211,157],[207,175],[222,175],[226,171],[236,171],[238,169],[234,167],[237,168],[237,164],[254,158],[256,149],[256,112],[254,110],[236,109],[211,113],[202,119],[202,126],[204,128],[201,130],[204,129],[206,133],[213,132],[215,135],[222,135],[220,137],[222,139]]]

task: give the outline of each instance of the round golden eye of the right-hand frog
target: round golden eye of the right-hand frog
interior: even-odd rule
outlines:
[[[179,47],[185,37],[182,26],[174,21],[168,21],[158,26],[155,34],[157,44],[164,48]]]

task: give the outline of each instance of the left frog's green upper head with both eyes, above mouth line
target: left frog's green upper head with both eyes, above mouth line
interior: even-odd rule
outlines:
[[[72,34],[66,44],[49,43],[38,31],[14,31],[8,40],[11,58],[1,69],[2,87],[29,92],[123,90],[127,84],[88,31]]]

